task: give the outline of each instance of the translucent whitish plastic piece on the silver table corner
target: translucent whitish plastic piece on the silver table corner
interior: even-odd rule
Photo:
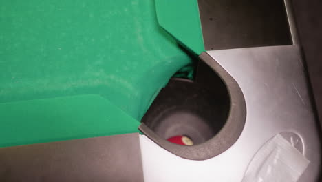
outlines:
[[[296,182],[309,163],[301,152],[277,134],[255,154],[242,182]]]

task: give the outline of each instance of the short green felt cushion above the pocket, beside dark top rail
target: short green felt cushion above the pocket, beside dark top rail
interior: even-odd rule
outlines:
[[[204,51],[197,0],[155,0],[155,8],[162,28],[195,54]]]

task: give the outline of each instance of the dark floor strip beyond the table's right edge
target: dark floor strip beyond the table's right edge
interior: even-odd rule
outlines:
[[[317,117],[322,123],[322,1],[293,0],[293,6]]]

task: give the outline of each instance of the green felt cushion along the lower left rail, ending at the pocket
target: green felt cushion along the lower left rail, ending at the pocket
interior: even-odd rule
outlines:
[[[0,147],[125,134],[140,124],[98,95],[1,103],[0,110]]]

